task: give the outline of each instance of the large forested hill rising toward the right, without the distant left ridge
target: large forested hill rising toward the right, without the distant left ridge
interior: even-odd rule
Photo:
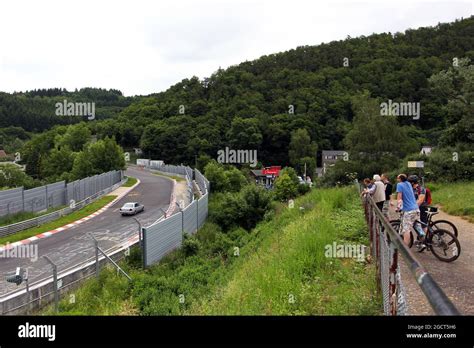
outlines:
[[[399,123],[416,127],[411,134],[420,143],[436,143],[460,116],[446,115],[448,97],[428,79],[462,57],[474,61],[474,17],[299,47],[218,70],[202,81],[185,79],[128,107],[119,124],[109,120],[99,128],[123,145],[141,143],[147,154],[165,161],[194,163],[194,155],[215,157],[230,146],[258,149],[265,164],[288,164],[291,133],[299,128],[319,150],[342,148],[353,119],[351,98],[367,90],[381,100],[420,102],[420,119]]]

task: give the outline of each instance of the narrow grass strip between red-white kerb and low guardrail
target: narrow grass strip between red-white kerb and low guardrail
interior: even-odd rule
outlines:
[[[56,219],[54,221],[48,222],[44,225],[38,226],[38,227],[32,227],[27,230],[12,234],[10,236],[2,237],[0,238],[0,245],[6,244],[7,242],[13,243],[25,238],[33,237],[37,234],[47,232],[54,230],[55,228],[67,225],[71,222],[74,222],[76,220],[82,219],[83,217],[86,217],[93,212],[96,212],[100,208],[102,208],[104,205],[107,203],[110,203],[113,201],[117,196],[111,195],[111,196],[104,196],[97,201],[85,206],[84,208],[75,211],[72,214],[63,216],[59,219]]]

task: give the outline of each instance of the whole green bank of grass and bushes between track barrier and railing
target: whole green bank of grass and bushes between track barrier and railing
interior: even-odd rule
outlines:
[[[189,254],[190,248],[183,247],[146,271],[140,269],[138,249],[133,249],[121,262],[132,282],[104,270],[99,279],[72,292],[74,303],[66,296],[60,314],[381,313],[374,265],[324,255],[325,246],[333,242],[368,244],[360,200],[353,190],[313,190],[297,199],[294,209],[278,205],[251,232],[238,228],[222,233],[207,222],[191,240],[197,252]],[[43,313],[52,314],[51,308]]]

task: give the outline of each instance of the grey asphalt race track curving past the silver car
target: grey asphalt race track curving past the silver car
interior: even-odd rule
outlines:
[[[102,214],[48,238],[32,242],[38,246],[38,260],[22,258],[0,258],[0,296],[17,290],[24,285],[16,286],[7,283],[4,275],[16,267],[28,267],[30,284],[51,276],[51,266],[42,258],[47,255],[58,266],[58,272],[80,264],[95,255],[93,241],[88,236],[91,232],[99,241],[99,246],[109,249],[138,233],[138,225],[131,216],[122,217],[118,212],[125,202],[141,202],[145,211],[135,217],[147,226],[163,215],[169,206],[173,182],[147,171],[129,168],[126,175],[140,179],[141,183],[122,199],[109,207]]]

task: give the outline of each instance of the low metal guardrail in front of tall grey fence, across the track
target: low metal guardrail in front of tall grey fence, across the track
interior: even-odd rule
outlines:
[[[35,218],[32,218],[32,219],[24,220],[24,221],[17,222],[17,223],[7,225],[7,226],[2,226],[2,227],[0,227],[0,237],[6,237],[6,236],[9,236],[9,235],[15,234],[19,231],[26,230],[28,228],[37,227],[37,226],[40,226],[40,225],[42,225],[46,222],[50,222],[50,221],[56,220],[56,219],[58,219],[62,216],[71,214],[71,213],[73,213],[73,212],[75,212],[79,209],[82,209],[86,205],[94,202],[95,200],[102,197],[103,195],[115,190],[117,187],[120,187],[124,183],[124,181],[125,180],[122,180],[122,181],[114,184],[111,187],[108,187],[108,188],[106,188],[102,191],[99,191],[99,192],[93,194],[92,196],[87,197],[86,199],[84,199],[80,202],[75,203],[74,208],[66,207],[66,208],[62,208],[62,209],[59,209],[59,210],[53,211],[51,213],[44,214],[44,215],[41,215],[41,216],[38,216],[38,217],[35,217]]]

